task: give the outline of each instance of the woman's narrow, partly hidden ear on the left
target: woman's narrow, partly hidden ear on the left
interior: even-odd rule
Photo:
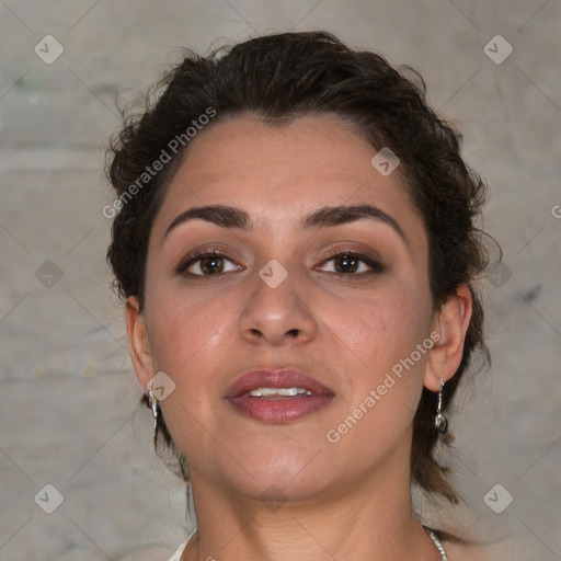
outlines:
[[[136,377],[142,390],[147,392],[147,385],[154,376],[154,366],[148,343],[146,318],[140,312],[138,299],[134,296],[129,296],[126,302],[126,320],[130,359],[135,367]]]

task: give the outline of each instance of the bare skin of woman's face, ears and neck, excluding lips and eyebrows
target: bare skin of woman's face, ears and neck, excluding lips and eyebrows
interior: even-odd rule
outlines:
[[[187,458],[198,523],[182,560],[440,559],[412,512],[412,423],[423,386],[436,392],[458,368],[471,299],[462,285],[433,310],[421,217],[399,169],[381,175],[375,153],[335,116],[279,128],[228,118],[190,144],[169,186],[150,236],[145,309],[130,297],[126,313],[142,388],[158,371],[175,383],[160,404]],[[245,210],[253,229],[196,219],[164,238],[178,215],[210,204]],[[407,241],[381,220],[302,228],[319,207],[359,204],[393,217]],[[225,272],[203,276],[198,262],[192,275],[175,273],[190,252],[209,247],[228,255]],[[383,270],[366,273],[360,262],[337,273],[332,256],[341,249]],[[257,275],[272,259],[288,273],[276,288]],[[414,367],[328,442],[328,431],[433,332],[438,342]],[[267,424],[225,399],[241,373],[288,365],[329,387],[330,404]],[[260,500],[271,485],[277,508]],[[453,551],[454,561],[469,558],[465,546]]]

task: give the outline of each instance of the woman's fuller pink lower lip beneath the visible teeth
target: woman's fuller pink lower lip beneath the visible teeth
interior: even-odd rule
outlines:
[[[299,398],[257,398],[243,393],[228,401],[237,411],[265,423],[288,423],[309,415],[328,405],[333,396],[307,396]]]

